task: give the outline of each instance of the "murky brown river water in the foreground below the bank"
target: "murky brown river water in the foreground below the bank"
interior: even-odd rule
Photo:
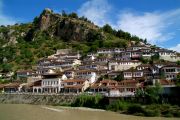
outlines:
[[[139,117],[109,111],[52,106],[0,104],[0,120],[179,120],[178,118]]]

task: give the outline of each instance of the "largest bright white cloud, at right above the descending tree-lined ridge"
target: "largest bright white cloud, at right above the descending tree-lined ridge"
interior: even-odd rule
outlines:
[[[142,14],[123,11],[119,15],[117,29],[130,32],[141,38],[147,38],[148,42],[152,44],[158,44],[175,36],[174,32],[167,29],[178,23],[179,20],[180,9]]]

